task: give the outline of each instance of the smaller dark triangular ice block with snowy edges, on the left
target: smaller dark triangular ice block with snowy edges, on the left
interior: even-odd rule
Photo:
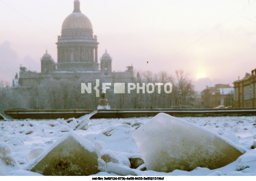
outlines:
[[[100,172],[98,155],[90,141],[74,133],[58,139],[25,168],[42,175],[91,175]]]

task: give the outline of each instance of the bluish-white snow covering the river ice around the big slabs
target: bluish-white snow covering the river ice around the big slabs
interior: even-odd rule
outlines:
[[[86,115],[84,116],[86,117]],[[33,163],[46,157],[46,152],[51,152],[55,146],[62,143],[65,135],[71,134],[78,140],[82,147],[95,152],[95,159],[98,162],[96,176],[117,176],[117,175],[139,175],[139,176],[175,176],[175,175],[256,175],[255,155],[256,149],[251,149],[253,137],[256,133],[256,117],[184,117],[184,121],[196,124],[201,128],[206,128],[215,134],[221,134],[230,139],[230,142],[248,149],[246,153],[234,162],[210,170],[208,168],[197,167],[192,171],[174,170],[173,172],[156,172],[145,170],[141,152],[132,138],[132,134],[140,129],[151,118],[125,118],[125,119],[89,119],[87,130],[74,130],[79,119],[55,120],[13,120],[0,121],[0,143],[4,144],[6,150],[17,161],[17,165],[6,165],[1,161],[0,175],[40,175],[39,173],[27,171]],[[62,126],[67,132],[61,132]],[[33,131],[30,134],[27,132]],[[64,138],[62,137],[64,136]],[[64,139],[64,140],[63,140]],[[226,142],[228,142],[226,140]],[[234,143],[230,143],[231,145]],[[7,147],[7,146],[8,147]],[[255,144],[256,145],[256,144]],[[46,151],[33,160],[28,160],[29,152],[33,149],[41,148]],[[11,149],[11,150],[10,150]],[[8,151],[9,150],[9,151]],[[103,156],[103,157],[102,157]],[[81,155],[81,157],[84,157]],[[100,157],[100,158],[99,158]],[[79,156],[76,156],[79,159]],[[109,160],[105,162],[103,160]],[[117,161],[119,160],[119,162]],[[116,162],[116,163],[114,163]],[[134,166],[138,166],[136,169]],[[130,168],[132,167],[132,168]]]

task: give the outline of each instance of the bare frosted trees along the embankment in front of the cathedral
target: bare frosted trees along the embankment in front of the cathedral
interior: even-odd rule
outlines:
[[[153,93],[114,94],[113,88],[106,89],[105,98],[112,109],[161,109],[161,108],[200,108],[195,98],[195,90],[188,74],[177,70],[175,76],[167,72],[135,71],[134,83],[171,83],[172,92],[166,94],[161,88]],[[46,79],[30,89],[11,88],[0,82],[0,111],[8,109],[97,109],[100,97],[81,93],[80,79]],[[101,86],[101,84],[100,84]],[[100,88],[99,88],[100,89]],[[168,88],[169,89],[169,88]],[[126,89],[127,90],[127,89]]]

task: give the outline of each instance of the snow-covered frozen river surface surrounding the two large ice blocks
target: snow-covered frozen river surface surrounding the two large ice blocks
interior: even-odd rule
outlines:
[[[92,144],[94,141],[104,142],[102,152],[109,151],[116,155],[120,160],[121,169],[123,166],[125,170],[127,164],[120,155],[140,154],[132,134],[136,128],[149,119],[151,118],[91,119],[88,122],[87,130],[74,130],[80,119],[73,119],[68,122],[64,119],[0,121],[0,143],[7,144],[12,149],[12,155],[17,161],[17,164],[12,167],[0,159],[0,175],[1,172],[2,175],[35,175],[33,172],[23,170],[33,160],[28,159],[29,152],[36,148],[47,150],[56,140],[69,132],[89,140]],[[183,117],[181,119],[225,136],[248,150],[251,149],[253,141],[256,141],[255,116]],[[248,158],[246,157],[248,167],[245,166],[245,169],[239,169],[241,159],[238,159],[236,162],[215,170],[197,168],[190,172],[175,170],[170,173],[131,170],[136,170],[137,175],[256,175],[256,149],[246,152],[243,156],[246,154],[248,154]],[[119,175],[119,172],[100,172],[97,175]]]

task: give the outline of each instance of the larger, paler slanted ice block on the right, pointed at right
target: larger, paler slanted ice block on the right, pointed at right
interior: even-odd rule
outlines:
[[[217,169],[235,161],[247,149],[212,131],[159,113],[133,133],[147,170]]]

